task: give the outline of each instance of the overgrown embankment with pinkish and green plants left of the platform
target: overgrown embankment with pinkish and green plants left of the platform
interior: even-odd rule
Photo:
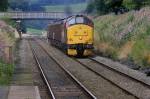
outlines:
[[[8,85],[13,73],[13,49],[16,45],[17,32],[0,20],[0,85]]]

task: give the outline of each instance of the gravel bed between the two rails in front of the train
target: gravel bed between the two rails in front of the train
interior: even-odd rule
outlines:
[[[122,73],[120,74],[116,71],[110,70],[110,68],[107,68],[107,66],[98,64],[90,59],[79,59],[79,61],[85,64],[87,67],[91,68],[92,70],[96,71],[98,74],[102,75],[106,79],[109,79],[110,81],[114,82],[121,88],[127,90],[129,93],[137,96],[138,98],[142,98],[142,99],[150,98],[149,86],[143,85],[143,83],[131,79],[130,76],[126,76],[123,75]]]

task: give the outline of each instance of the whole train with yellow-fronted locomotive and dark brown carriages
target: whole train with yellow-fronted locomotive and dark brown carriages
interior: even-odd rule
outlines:
[[[47,38],[70,56],[92,55],[94,24],[84,15],[74,15],[48,25]]]

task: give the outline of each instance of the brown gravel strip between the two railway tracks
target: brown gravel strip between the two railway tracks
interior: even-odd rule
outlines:
[[[54,60],[62,67],[69,70],[80,82],[82,82],[98,99],[137,99],[137,97],[115,86],[104,77],[97,75],[95,72],[87,69],[78,61],[66,56],[60,50],[49,46],[46,41],[37,40],[39,44],[53,56]]]

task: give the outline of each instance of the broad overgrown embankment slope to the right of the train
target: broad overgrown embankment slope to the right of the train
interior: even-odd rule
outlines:
[[[94,19],[95,49],[102,56],[119,60],[131,68],[150,67],[150,8]],[[146,69],[145,69],[146,68]]]

